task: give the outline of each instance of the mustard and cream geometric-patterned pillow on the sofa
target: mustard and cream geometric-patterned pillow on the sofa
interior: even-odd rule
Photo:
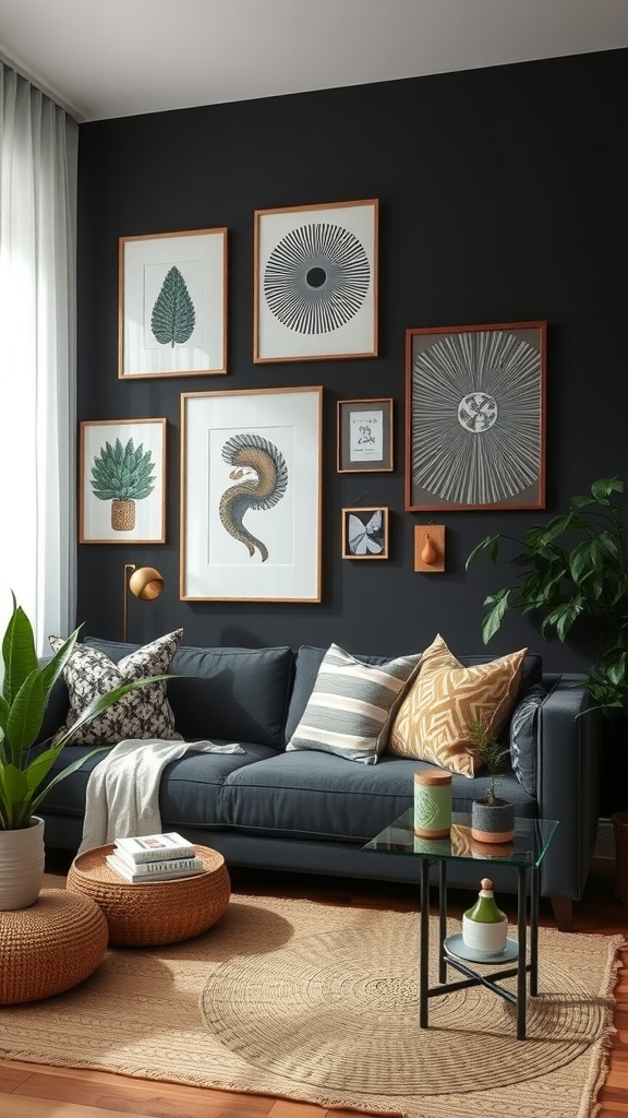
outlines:
[[[515,700],[527,648],[488,664],[465,667],[440,635],[426,648],[419,674],[394,719],[388,750],[475,776],[468,726],[482,719],[491,738],[502,730]]]

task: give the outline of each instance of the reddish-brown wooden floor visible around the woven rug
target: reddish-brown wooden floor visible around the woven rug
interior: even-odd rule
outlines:
[[[56,872],[65,868],[50,866]],[[323,904],[369,908],[416,908],[409,887],[364,884],[344,879],[288,874],[231,873],[234,892],[304,897]],[[460,917],[469,894],[451,892],[450,912]],[[552,927],[549,904],[541,902],[541,923]],[[575,907],[578,931],[628,935],[628,907],[612,898],[612,863],[593,863],[584,898]],[[597,1118],[628,1115],[628,950],[616,987],[617,1029],[609,1072],[599,1093]],[[1,1011],[0,1011],[1,1012]],[[312,1103],[268,1096],[234,1095],[199,1087],[180,1087],[126,1079],[96,1071],[73,1071],[0,1060],[0,1115],[2,1118],[355,1118],[353,1110],[325,1110]],[[550,1118],[550,1116],[549,1116]]]

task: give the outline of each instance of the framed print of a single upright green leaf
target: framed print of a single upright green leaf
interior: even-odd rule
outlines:
[[[227,229],[118,243],[118,377],[227,372]]]

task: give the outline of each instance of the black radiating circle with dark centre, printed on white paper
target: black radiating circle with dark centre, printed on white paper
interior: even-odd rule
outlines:
[[[371,268],[359,237],[331,221],[312,221],[282,237],[264,269],[270,313],[297,334],[330,334],[362,307]]]

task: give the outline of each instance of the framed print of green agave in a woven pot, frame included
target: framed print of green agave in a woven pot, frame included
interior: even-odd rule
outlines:
[[[165,419],[79,428],[79,543],[165,542]]]

